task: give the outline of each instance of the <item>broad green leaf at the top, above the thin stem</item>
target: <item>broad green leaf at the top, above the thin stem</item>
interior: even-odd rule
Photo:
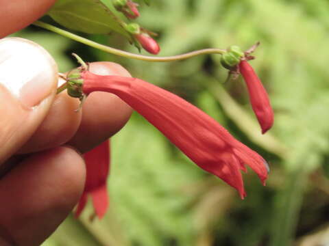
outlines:
[[[133,39],[114,13],[99,0],[58,0],[47,14],[60,25],[75,31],[91,34],[116,31],[130,41]]]

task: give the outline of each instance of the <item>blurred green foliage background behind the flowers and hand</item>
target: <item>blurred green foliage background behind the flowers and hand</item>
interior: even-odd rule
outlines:
[[[133,77],[182,96],[263,155],[271,167],[267,186],[253,172],[244,174],[241,200],[134,113],[112,137],[106,217],[90,222],[88,206],[43,246],[329,245],[329,2],[153,0],[140,10],[137,22],[159,34],[161,56],[232,44],[245,50],[260,41],[251,64],[270,94],[271,131],[260,134],[243,81],[223,83],[227,70],[219,55],[156,64],[37,27],[14,36],[44,46],[62,72],[77,66],[74,51],[86,61],[118,62]],[[88,38],[138,52],[117,35]]]

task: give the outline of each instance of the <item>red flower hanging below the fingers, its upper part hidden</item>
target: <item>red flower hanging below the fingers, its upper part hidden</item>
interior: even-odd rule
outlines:
[[[106,140],[99,146],[84,154],[86,163],[86,184],[75,217],[79,217],[86,206],[88,195],[91,195],[95,213],[101,219],[108,208],[108,192],[106,190],[106,178],[110,167],[110,141]]]

